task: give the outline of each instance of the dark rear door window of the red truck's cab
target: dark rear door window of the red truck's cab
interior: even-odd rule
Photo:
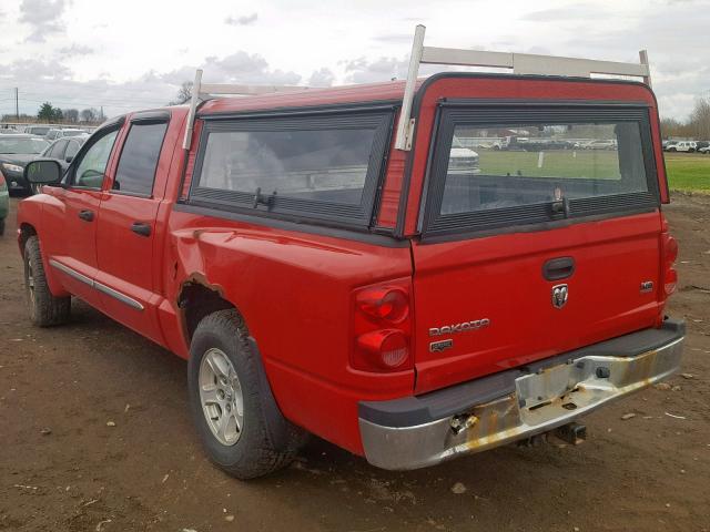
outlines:
[[[141,196],[152,194],[155,168],[166,129],[168,122],[138,122],[131,125],[115,171],[114,191]]]

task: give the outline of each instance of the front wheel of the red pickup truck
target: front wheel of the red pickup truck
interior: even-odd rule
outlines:
[[[51,327],[65,324],[71,311],[71,297],[55,297],[49,289],[40,241],[30,236],[24,243],[24,294],[32,324]]]

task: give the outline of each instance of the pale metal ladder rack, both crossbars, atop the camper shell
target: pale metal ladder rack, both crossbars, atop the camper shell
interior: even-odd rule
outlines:
[[[599,61],[594,59],[564,58],[557,55],[538,55],[530,53],[488,52],[478,50],[464,50],[455,48],[435,48],[424,45],[426,28],[417,25],[414,32],[412,54],[409,55],[409,69],[402,102],[402,112],[397,123],[397,136],[395,147],[397,150],[412,150],[412,135],[415,119],[410,117],[412,103],[416,90],[419,64],[446,64],[456,66],[485,66],[511,69],[514,74],[562,75],[576,78],[591,78],[591,74],[625,75],[641,78],[643,83],[651,85],[651,73],[646,50],[639,52],[639,63],[622,63],[617,61]],[[194,126],[197,100],[212,94],[255,95],[272,92],[302,91],[306,86],[278,86],[278,85],[230,85],[230,84],[202,84],[202,70],[195,73],[190,113],[185,126],[183,147],[190,149],[192,129]]]

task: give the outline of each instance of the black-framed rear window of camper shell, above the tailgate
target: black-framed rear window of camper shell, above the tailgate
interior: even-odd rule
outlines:
[[[546,223],[658,205],[648,110],[444,109],[425,232]]]

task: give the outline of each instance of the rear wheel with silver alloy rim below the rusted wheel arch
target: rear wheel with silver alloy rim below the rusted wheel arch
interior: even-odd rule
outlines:
[[[190,345],[187,386],[202,446],[216,466],[237,479],[288,466],[305,442],[306,432],[281,413],[261,358],[234,309],[211,314],[197,325]],[[221,422],[224,419],[226,423]]]

